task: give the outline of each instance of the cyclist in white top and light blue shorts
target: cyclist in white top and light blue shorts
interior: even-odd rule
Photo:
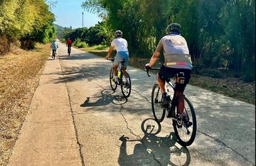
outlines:
[[[127,40],[122,38],[121,30],[116,30],[115,35],[116,35],[116,39],[113,39],[113,41],[111,42],[111,46],[109,48],[106,58],[109,58],[111,56],[113,48],[116,48],[117,53],[116,53],[115,60],[113,62],[113,73],[114,73],[113,77],[115,79],[115,83],[118,84],[118,64],[120,64],[122,59],[125,59],[125,64],[122,67],[122,71],[124,72],[127,83],[129,84],[128,74],[126,71],[128,60],[129,60]]]

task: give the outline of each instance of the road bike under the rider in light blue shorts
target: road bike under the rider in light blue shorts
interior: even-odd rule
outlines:
[[[108,58],[111,60],[111,62],[114,61],[115,58]],[[127,77],[125,77],[124,71],[122,71],[122,67],[124,67],[125,64],[125,59],[122,59],[120,64],[118,65],[118,83],[115,83],[115,78],[113,77],[113,68],[111,68],[110,73],[109,73],[109,81],[110,81],[110,86],[113,91],[116,91],[116,88],[118,85],[121,86],[121,91],[122,95],[125,98],[129,98],[129,95],[131,94],[131,77],[129,76],[129,73],[127,73]],[[127,80],[129,80],[127,82]]]

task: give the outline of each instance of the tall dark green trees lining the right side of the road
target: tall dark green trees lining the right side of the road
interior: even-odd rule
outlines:
[[[109,36],[122,30],[131,56],[151,57],[167,25],[178,22],[196,67],[255,75],[254,0],[84,0],[82,7],[104,19]]]

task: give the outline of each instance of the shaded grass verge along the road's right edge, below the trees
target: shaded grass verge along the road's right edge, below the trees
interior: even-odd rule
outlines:
[[[93,48],[84,48],[82,50],[101,57],[107,55],[107,50],[95,50]],[[146,58],[134,58],[132,56],[129,58],[129,65],[138,68],[144,68],[147,62],[149,62],[149,59]],[[224,79],[192,74],[190,84],[255,105],[255,82],[246,83],[235,77]]]

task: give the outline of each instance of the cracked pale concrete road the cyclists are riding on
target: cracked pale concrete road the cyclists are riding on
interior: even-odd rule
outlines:
[[[129,66],[132,91],[125,100],[120,86],[115,92],[110,88],[111,62],[75,48],[68,57],[66,50],[66,46],[60,44],[56,66],[51,66],[52,62],[49,61],[46,68],[52,68],[52,71],[48,71],[48,77],[51,77],[48,84],[66,87],[66,93],[48,91],[58,94],[56,100],[60,100],[55,102],[54,111],[62,111],[62,105],[70,106],[69,113],[65,114],[68,119],[65,124],[72,124],[73,129],[68,126],[69,130],[62,130],[63,134],[70,134],[70,142],[62,149],[73,147],[77,151],[65,153],[67,160],[72,159],[73,165],[255,165],[254,105],[188,86],[185,94],[194,104],[198,124],[194,143],[190,147],[183,147],[174,139],[172,120],[165,118],[161,124],[157,124],[152,119],[151,91],[156,82],[153,73],[152,77],[147,77],[145,71]],[[56,71],[59,62],[60,70]],[[62,101],[62,98],[68,100]],[[39,120],[33,120],[37,125]],[[145,134],[148,124],[154,126],[152,130],[155,135]],[[53,131],[60,129],[55,123],[51,127],[55,129]],[[26,125],[22,127],[20,137],[25,133],[30,134]],[[42,139],[46,136],[42,136]],[[35,139],[38,138],[30,137],[31,145],[37,145]],[[49,141],[54,144],[57,139]],[[57,142],[55,145],[58,145]],[[19,139],[10,161],[17,160],[17,146],[23,146]],[[46,165],[42,162],[27,163]],[[50,165],[71,164],[55,162]]]

